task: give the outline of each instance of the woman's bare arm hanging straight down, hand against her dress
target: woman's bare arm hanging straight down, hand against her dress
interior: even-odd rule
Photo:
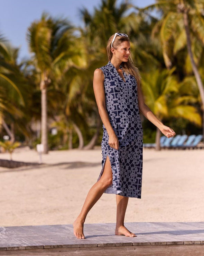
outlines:
[[[104,91],[103,83],[104,83],[103,71],[98,68],[94,71],[94,76],[93,76],[93,89],[94,89],[94,94],[96,98],[96,103],[99,109],[101,120],[109,135],[109,145],[110,147],[113,147],[118,150],[119,149],[118,137],[115,135],[115,132],[111,126],[108,112],[105,106],[105,91]]]

